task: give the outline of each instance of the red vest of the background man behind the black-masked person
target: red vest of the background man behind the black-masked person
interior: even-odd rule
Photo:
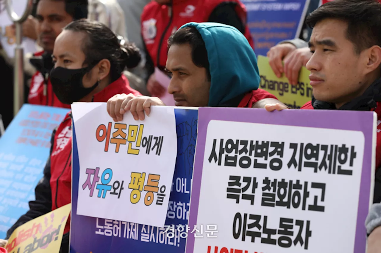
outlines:
[[[40,56],[42,54],[43,52],[38,52],[34,55]],[[28,103],[70,109],[70,104],[61,103],[61,101],[59,101],[56,97],[56,94],[54,94],[49,77],[42,76],[42,74],[39,71],[37,71],[32,76],[32,81],[30,82],[30,89],[28,95]]]

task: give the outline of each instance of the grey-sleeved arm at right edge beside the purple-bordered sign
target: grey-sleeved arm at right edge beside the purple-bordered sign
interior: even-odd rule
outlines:
[[[373,204],[365,221],[368,237],[367,253],[381,252],[381,203]]]

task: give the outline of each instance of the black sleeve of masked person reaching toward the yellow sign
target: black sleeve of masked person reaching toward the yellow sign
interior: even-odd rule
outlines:
[[[22,215],[16,223],[6,232],[6,239],[12,235],[19,226],[51,211],[51,188],[50,188],[50,155],[53,149],[53,141],[56,129],[51,137],[51,147],[48,161],[44,168],[44,175],[35,188],[35,200],[29,202],[29,210]]]

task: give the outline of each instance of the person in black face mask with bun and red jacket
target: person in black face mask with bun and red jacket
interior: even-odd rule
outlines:
[[[67,25],[56,38],[53,51],[54,68],[50,79],[53,91],[61,103],[106,102],[118,93],[133,93],[124,68],[138,65],[141,60],[133,44],[119,44],[117,36],[106,25],[96,21],[79,20]],[[44,176],[35,188],[35,201],[8,230],[70,203],[71,192],[71,124],[69,112],[53,131],[50,157]],[[61,251],[69,252],[69,225],[67,221]]]

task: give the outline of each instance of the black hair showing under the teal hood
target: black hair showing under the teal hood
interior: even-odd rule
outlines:
[[[168,39],[168,49],[172,45],[189,44],[192,48],[192,62],[194,65],[205,68],[210,81],[210,69],[208,61],[208,51],[201,34],[195,27],[184,27],[170,36]]]

